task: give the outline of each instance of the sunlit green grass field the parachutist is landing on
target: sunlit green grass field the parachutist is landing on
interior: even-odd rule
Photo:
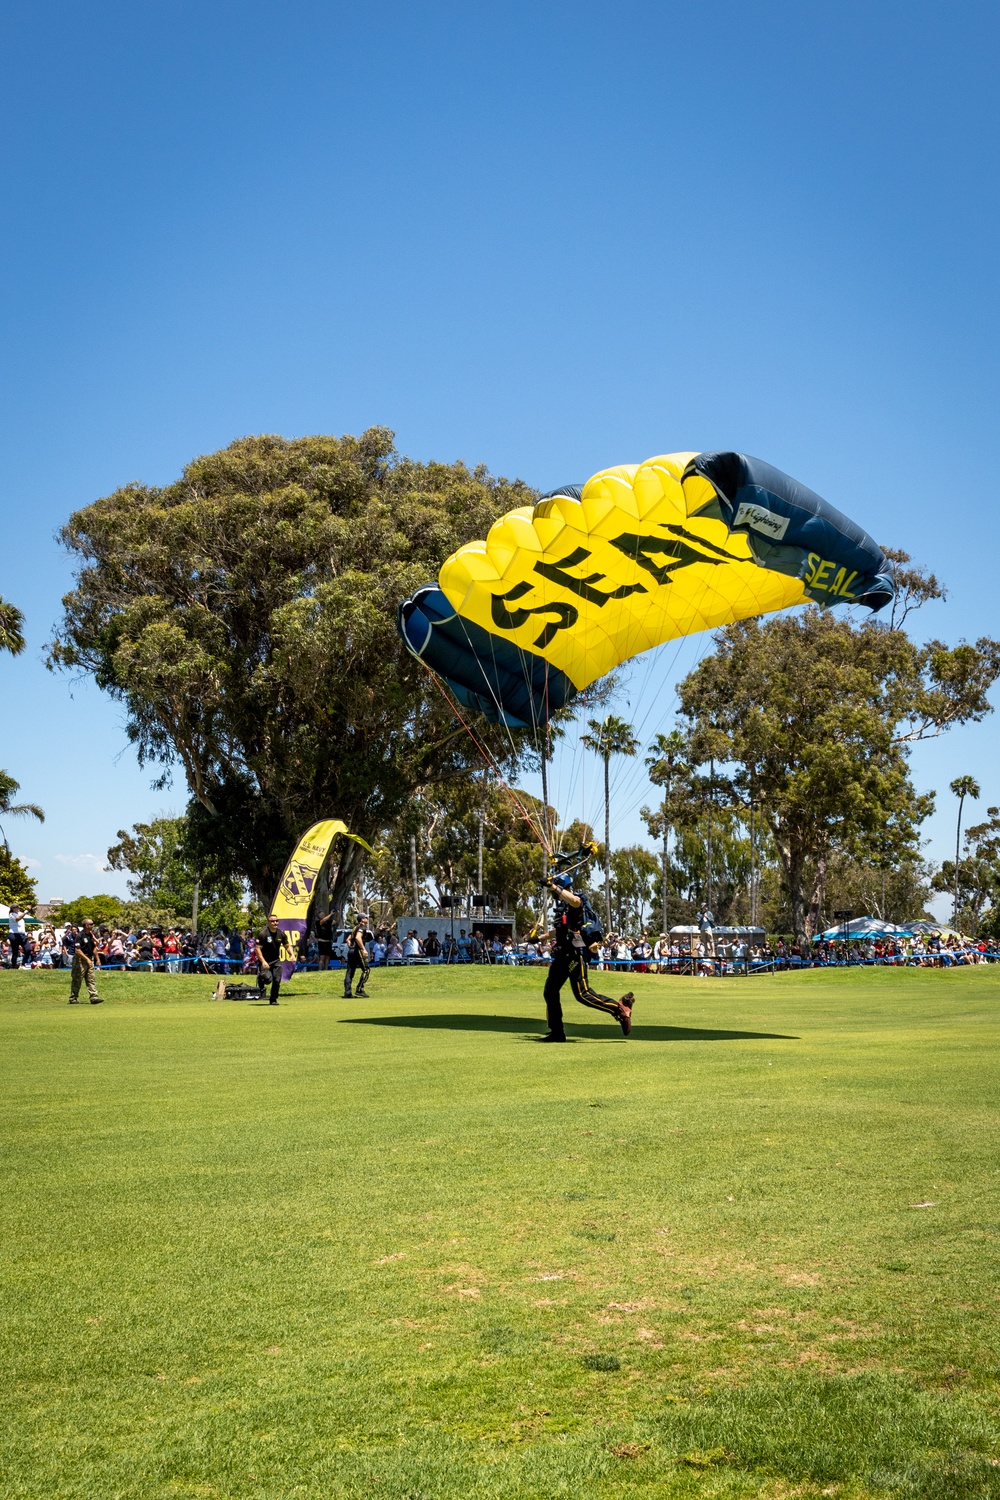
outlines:
[[[0,1494],[1000,1497],[1000,969],[540,986],[0,975]]]

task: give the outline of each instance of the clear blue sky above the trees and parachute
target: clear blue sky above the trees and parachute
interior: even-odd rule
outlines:
[[[985,3],[7,0],[0,765],[39,896],[123,891],[115,830],[184,801],[40,664],[54,532],[241,434],[381,423],[540,488],[741,448],[936,568],[922,632],[997,633],[999,51]],[[999,735],[913,756],[939,858]]]

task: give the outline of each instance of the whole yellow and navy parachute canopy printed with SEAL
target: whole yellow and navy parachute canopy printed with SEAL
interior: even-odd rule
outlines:
[[[502,516],[400,604],[399,633],[460,705],[538,728],[678,636],[891,598],[882,549],[811,489],[742,453],[667,453]]]

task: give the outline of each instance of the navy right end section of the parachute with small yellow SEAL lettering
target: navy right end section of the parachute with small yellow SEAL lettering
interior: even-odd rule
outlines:
[[[892,574],[882,548],[814,490],[745,453],[699,453],[684,471],[700,474],[715,500],[693,514],[717,516],[745,534],[762,567],[798,578],[817,604],[844,600],[882,609]]]

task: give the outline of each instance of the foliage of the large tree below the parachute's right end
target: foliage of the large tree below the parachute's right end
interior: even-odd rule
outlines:
[[[907,746],[988,714],[997,675],[996,640],[922,646],[816,609],[718,632],[678,690],[690,759],[727,762],[732,800],[763,814],[799,940],[832,854],[913,858],[933,798],[913,789]]]

